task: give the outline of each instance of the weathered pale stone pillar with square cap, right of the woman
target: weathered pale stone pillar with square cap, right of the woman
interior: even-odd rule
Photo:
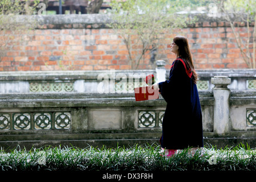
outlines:
[[[213,132],[217,135],[225,135],[230,131],[229,122],[229,98],[230,89],[228,85],[231,83],[231,78],[227,76],[214,76],[211,78],[214,96],[214,119]]]

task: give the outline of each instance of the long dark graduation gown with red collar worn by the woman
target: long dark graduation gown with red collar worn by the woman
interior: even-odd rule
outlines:
[[[167,102],[160,138],[163,148],[203,147],[201,106],[191,75],[178,58],[172,63],[169,80],[159,82],[159,92]]]

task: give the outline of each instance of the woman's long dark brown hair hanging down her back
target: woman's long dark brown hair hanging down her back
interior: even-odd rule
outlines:
[[[196,84],[197,73],[193,65],[193,60],[188,45],[188,39],[184,36],[175,36],[173,41],[177,46],[179,46],[179,49],[177,50],[177,57],[181,57],[185,61],[187,68],[191,69],[191,72],[193,74],[192,80]]]

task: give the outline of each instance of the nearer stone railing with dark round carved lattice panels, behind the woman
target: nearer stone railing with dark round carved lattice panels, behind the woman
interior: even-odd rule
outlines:
[[[229,93],[230,96],[225,97],[227,100],[222,102],[222,94],[199,92],[205,143],[218,144],[218,138],[218,142],[223,138],[235,138],[253,147],[256,94],[249,91]],[[0,103],[2,147],[15,147],[15,144],[85,147],[110,143],[113,147],[116,142],[126,145],[158,142],[166,109],[162,97],[136,102],[134,94],[129,93],[1,94]],[[183,123],[180,125],[182,127]]]

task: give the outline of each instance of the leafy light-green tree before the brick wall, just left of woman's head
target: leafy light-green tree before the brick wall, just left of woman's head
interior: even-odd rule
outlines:
[[[127,51],[131,69],[137,69],[146,54],[151,54],[151,60],[158,58],[159,46],[164,39],[164,33],[175,28],[193,23],[188,14],[179,14],[191,6],[190,1],[180,0],[127,0],[112,1],[110,11],[113,23],[110,27],[122,36]],[[165,45],[171,43],[171,38],[165,37]],[[135,49],[141,49],[136,52]]]

